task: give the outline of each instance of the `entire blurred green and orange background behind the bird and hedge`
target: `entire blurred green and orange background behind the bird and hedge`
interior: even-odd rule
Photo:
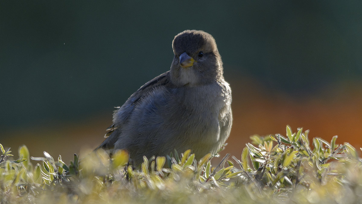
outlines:
[[[223,153],[253,134],[362,141],[362,1],[1,1],[0,143],[69,162],[169,70],[173,37],[216,39],[233,94]],[[15,153],[16,155],[16,153]]]

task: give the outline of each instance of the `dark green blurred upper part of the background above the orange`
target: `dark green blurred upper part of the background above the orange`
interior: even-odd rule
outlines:
[[[169,70],[185,29],[214,36],[228,81],[251,76],[291,97],[359,82],[361,11],[331,0],[1,1],[0,130],[111,115]]]

